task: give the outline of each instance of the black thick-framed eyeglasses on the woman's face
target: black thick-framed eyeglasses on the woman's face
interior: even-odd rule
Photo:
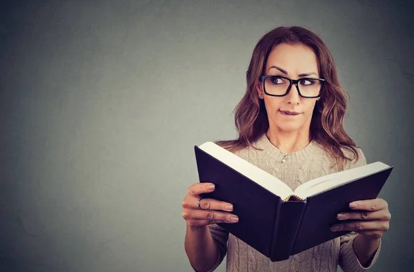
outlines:
[[[266,95],[284,97],[290,91],[292,84],[296,85],[299,96],[304,98],[317,98],[322,94],[325,79],[304,77],[301,79],[288,79],[279,75],[262,75],[260,80]],[[299,84],[300,83],[300,84]]]

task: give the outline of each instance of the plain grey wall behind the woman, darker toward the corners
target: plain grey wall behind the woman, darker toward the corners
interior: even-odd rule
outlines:
[[[372,271],[411,270],[414,8],[388,2],[2,1],[0,271],[192,271],[194,145],[236,136],[253,48],[282,25],[322,37],[346,131],[395,166]]]

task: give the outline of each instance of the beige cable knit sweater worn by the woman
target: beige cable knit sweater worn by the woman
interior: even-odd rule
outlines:
[[[242,157],[246,161],[262,168],[264,171],[277,177],[285,182],[292,190],[295,190],[300,184],[304,184],[308,180],[322,177],[330,173],[338,171],[334,160],[319,146],[316,142],[311,142],[294,153],[288,153],[286,162],[282,159],[286,153],[283,153],[274,146],[264,133],[257,142],[254,143],[257,148],[263,150],[255,150],[254,148],[244,148],[235,152],[236,155]],[[357,162],[347,161],[344,170],[355,168],[366,164],[366,159],[362,150],[358,148],[360,158]],[[347,157],[351,157],[348,150],[344,150]],[[237,223],[235,223],[237,224]],[[337,271],[339,265],[344,272],[365,271],[371,268],[377,260],[381,249],[380,246],[375,252],[368,266],[364,267],[359,263],[355,252],[353,251],[353,241],[357,233],[351,232],[346,235],[337,237],[336,239],[324,242],[314,246],[311,249],[291,255],[288,260],[279,262],[271,262],[269,258],[262,255],[248,244],[239,240],[237,237],[228,233],[217,224],[208,226],[213,239],[217,243],[219,249],[219,259],[210,271],[217,269],[217,266],[224,260],[227,254],[226,271],[286,271],[286,272],[302,272],[302,271]]]

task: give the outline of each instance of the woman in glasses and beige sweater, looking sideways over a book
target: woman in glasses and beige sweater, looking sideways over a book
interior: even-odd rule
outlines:
[[[345,133],[345,92],[324,42],[305,28],[279,27],[259,40],[246,73],[247,90],[237,106],[239,138],[216,144],[274,175],[294,190],[322,175],[366,164]],[[350,204],[338,214],[339,229],[351,233],[271,262],[229,235],[218,222],[237,224],[230,203],[201,199],[214,184],[188,188],[182,202],[187,222],[185,249],[195,271],[213,271],[227,254],[227,271],[336,271],[370,268],[380,253],[391,214],[382,199]]]

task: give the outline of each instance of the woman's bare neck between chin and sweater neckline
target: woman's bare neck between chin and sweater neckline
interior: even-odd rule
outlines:
[[[284,131],[268,128],[266,136],[269,141],[284,153],[297,152],[310,142],[309,130]]]

